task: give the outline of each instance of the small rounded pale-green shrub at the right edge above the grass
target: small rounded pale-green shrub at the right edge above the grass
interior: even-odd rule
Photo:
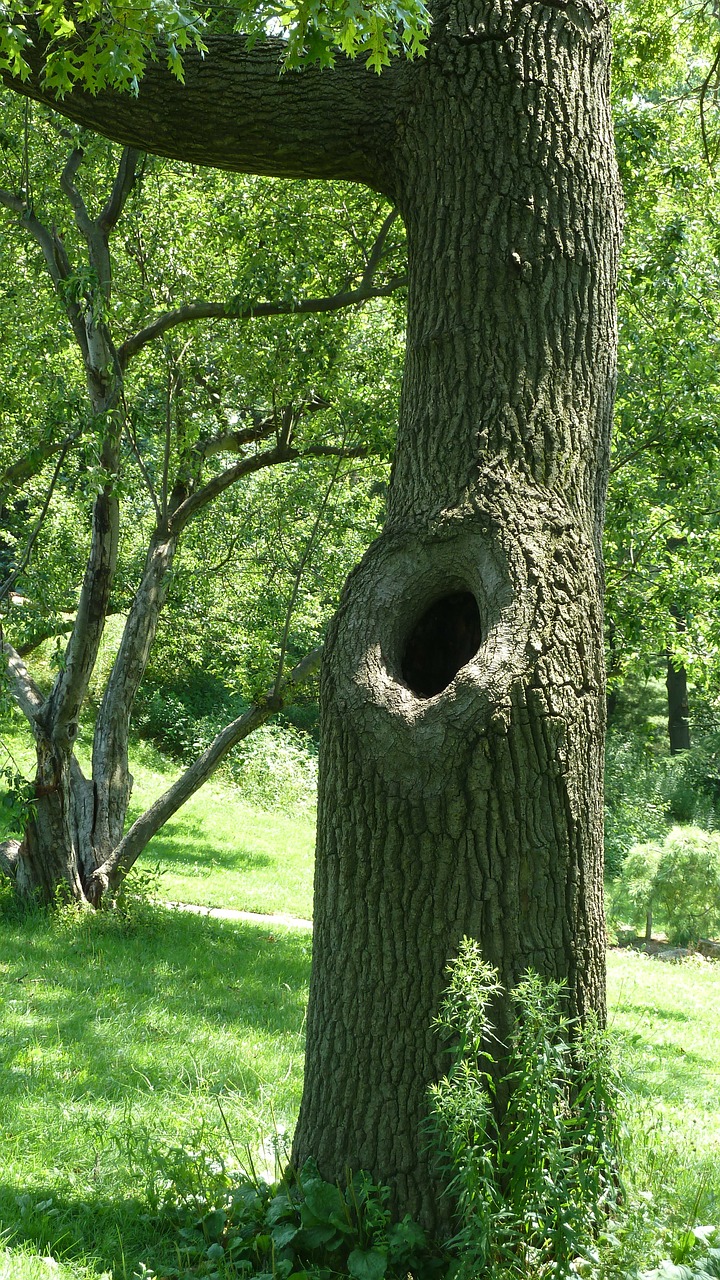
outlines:
[[[637,927],[648,913],[678,945],[720,931],[720,832],[673,827],[662,845],[635,845],[614,886],[611,915]]]

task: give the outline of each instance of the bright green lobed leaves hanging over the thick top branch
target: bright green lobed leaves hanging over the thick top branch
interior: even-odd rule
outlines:
[[[379,72],[393,54],[421,54],[428,27],[423,0],[0,0],[0,72],[27,79],[41,44],[58,97],[74,84],[137,93],[149,59],[164,56],[182,81],[183,52],[205,54],[205,36],[227,32],[281,36],[288,68],[329,67],[342,51]]]

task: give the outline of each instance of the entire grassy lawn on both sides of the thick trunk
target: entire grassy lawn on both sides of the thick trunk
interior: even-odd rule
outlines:
[[[17,755],[24,746],[13,741]],[[169,781],[142,749],[135,812]],[[313,823],[213,785],[156,837],[163,897],[310,914]],[[0,897],[0,1280],[133,1280],[178,1263],[168,1187],[273,1164],[300,1101],[310,938],[140,905],[19,923]],[[628,1258],[720,1224],[720,964],[609,957],[632,1094]],[[638,1196],[638,1193],[641,1193]],[[624,1243],[607,1280],[625,1280]],[[634,1265],[634,1262],[633,1262]]]

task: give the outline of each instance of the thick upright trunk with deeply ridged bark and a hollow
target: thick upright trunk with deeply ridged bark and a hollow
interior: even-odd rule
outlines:
[[[533,966],[566,980],[571,1012],[603,1012],[607,32],[584,9],[515,26],[436,32],[407,106],[421,146],[398,156],[411,276],[389,515],[322,681],[295,1157],[331,1180],[369,1169],[429,1224],[432,1023],[462,934],[506,984]]]

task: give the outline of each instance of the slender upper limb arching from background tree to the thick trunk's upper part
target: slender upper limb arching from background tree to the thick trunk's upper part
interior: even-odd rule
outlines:
[[[388,280],[387,284],[377,285],[363,279],[355,289],[334,293],[325,298],[301,298],[297,302],[283,300],[279,302],[251,302],[246,306],[241,306],[237,300],[232,300],[231,302],[186,302],[182,307],[158,316],[145,329],[140,329],[138,333],[127,338],[118,348],[118,360],[120,367],[127,369],[132,357],[146,347],[149,342],[154,342],[155,338],[163,337],[170,329],[176,329],[181,324],[188,324],[192,320],[243,321],[263,316],[323,315],[332,311],[342,311],[343,307],[351,307],[361,302],[369,302],[372,298],[387,298],[406,283],[407,278],[405,275],[397,275],[395,279]]]

